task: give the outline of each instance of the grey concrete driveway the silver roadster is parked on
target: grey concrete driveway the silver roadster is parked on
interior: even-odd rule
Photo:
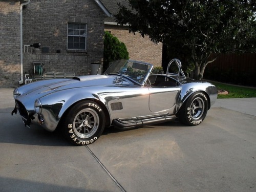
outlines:
[[[218,99],[198,126],[106,129],[72,146],[28,129],[0,88],[0,191],[256,191],[256,98]]]

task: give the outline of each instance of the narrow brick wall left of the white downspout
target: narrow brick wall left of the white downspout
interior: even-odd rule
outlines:
[[[17,86],[20,74],[20,9],[17,1],[0,1],[0,87]]]

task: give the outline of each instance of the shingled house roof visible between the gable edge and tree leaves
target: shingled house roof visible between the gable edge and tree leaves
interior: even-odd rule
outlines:
[[[108,17],[105,18],[105,23],[108,24],[117,24],[113,15],[115,15],[119,11],[118,3],[121,5],[125,5],[129,7],[129,2],[126,0],[94,0],[98,5],[102,4],[106,10],[110,13]],[[101,7],[100,7],[101,8]]]

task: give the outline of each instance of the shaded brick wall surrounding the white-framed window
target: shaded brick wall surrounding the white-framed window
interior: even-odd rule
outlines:
[[[46,72],[90,74],[90,63],[103,63],[105,17],[92,0],[31,1],[24,8],[24,45],[41,43],[40,51],[24,53],[24,74],[33,69],[32,62],[44,62]],[[87,24],[87,51],[67,50],[68,22]],[[49,48],[42,53],[42,48]],[[60,53],[56,53],[59,50]]]

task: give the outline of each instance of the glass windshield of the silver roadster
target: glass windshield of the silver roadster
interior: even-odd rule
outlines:
[[[105,75],[120,75],[129,78],[136,83],[144,85],[150,75],[153,65],[134,60],[117,60],[105,71]]]

